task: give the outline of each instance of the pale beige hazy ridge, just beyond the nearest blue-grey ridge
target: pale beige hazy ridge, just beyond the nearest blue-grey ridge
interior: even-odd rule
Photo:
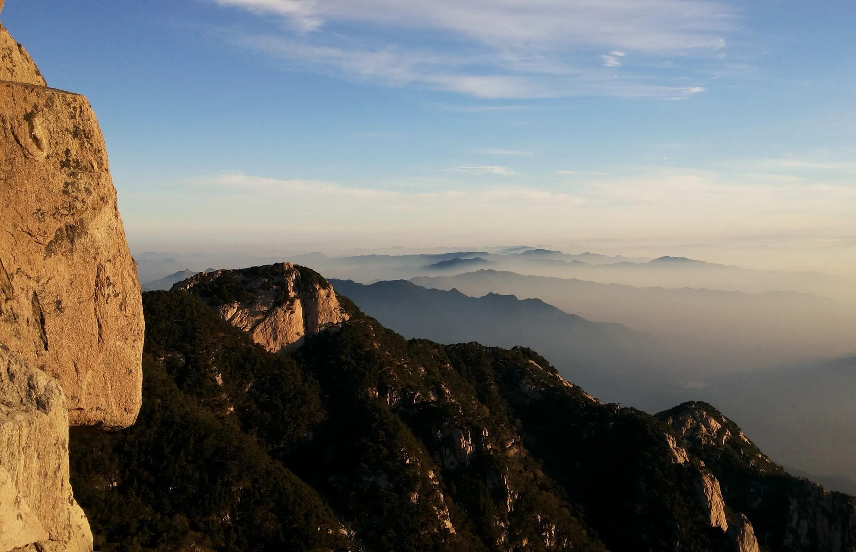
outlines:
[[[496,270],[412,281],[473,297],[494,292],[542,299],[588,320],[620,322],[670,338],[708,367],[746,369],[856,352],[856,310],[793,291],[638,288]]]

